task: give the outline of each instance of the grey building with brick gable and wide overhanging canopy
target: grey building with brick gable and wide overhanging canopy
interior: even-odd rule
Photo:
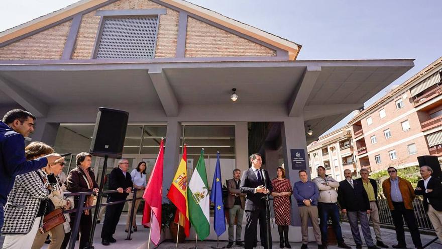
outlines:
[[[223,180],[262,151],[271,176],[284,162],[295,182],[292,149],[306,155],[317,139],[305,127],[323,133],[413,66],[299,61],[300,49],[182,0],[83,0],[0,33],[0,112],[31,111],[32,139],[73,154],[88,151],[98,107],[129,112],[123,156],[132,167],[145,160],[149,172],[166,138],[163,196],[184,143],[189,173],[201,148],[209,179],[221,153]]]

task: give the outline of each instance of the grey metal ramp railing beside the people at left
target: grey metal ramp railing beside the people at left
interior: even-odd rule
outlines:
[[[112,193],[117,193],[117,190],[106,190],[103,191],[103,194],[112,194]],[[128,236],[126,238],[126,240],[131,240],[131,230],[132,230],[132,219],[134,217],[134,209],[135,209],[135,200],[137,199],[142,199],[137,198],[137,189],[133,189],[132,193],[134,194],[132,199],[126,199],[126,200],[122,200],[122,201],[114,201],[114,202],[107,202],[107,203],[101,203],[100,207],[105,207],[105,206],[111,206],[111,205],[115,205],[115,204],[119,204],[119,203],[124,203],[124,202],[128,202],[128,201],[132,201],[133,205],[131,206],[131,217],[130,217],[130,221],[129,221],[129,227],[130,229],[128,229]],[[78,193],[69,193],[66,195],[67,196],[78,196],[78,202],[75,203],[75,207],[74,209],[71,210],[66,210],[63,213],[75,213],[75,218],[74,218],[74,222],[73,222],[73,227],[71,227],[71,234],[70,234],[70,239],[69,239],[69,249],[74,249],[75,247],[75,242],[76,242],[76,238],[77,238],[77,234],[78,234],[78,230],[80,227],[80,220],[81,220],[81,215],[82,212],[84,210],[87,209],[92,209],[95,207],[95,205],[93,206],[89,206],[89,207],[85,207],[84,206],[84,201],[86,200],[86,196],[88,195],[95,195],[97,194],[94,191],[91,192],[78,192]],[[90,215],[92,215],[90,213]],[[95,218],[95,217],[93,217]],[[90,231],[91,233],[93,232],[92,230]],[[82,234],[81,236],[85,236],[86,234]],[[89,234],[87,234],[87,236],[89,236]],[[89,241],[90,243],[91,241]]]

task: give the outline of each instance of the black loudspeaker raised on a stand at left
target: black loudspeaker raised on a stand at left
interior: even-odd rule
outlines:
[[[120,159],[128,127],[129,113],[111,109],[98,108],[95,128],[93,130],[90,151],[94,156]]]

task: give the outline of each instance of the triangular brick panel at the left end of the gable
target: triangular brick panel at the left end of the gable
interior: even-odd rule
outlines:
[[[0,48],[0,60],[60,59],[72,21]]]

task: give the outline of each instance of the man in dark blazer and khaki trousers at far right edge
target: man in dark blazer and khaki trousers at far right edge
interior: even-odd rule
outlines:
[[[433,224],[437,237],[442,241],[442,198],[440,198],[442,184],[439,179],[431,177],[432,173],[433,170],[430,167],[420,167],[422,180],[417,182],[414,193],[423,195],[423,208]]]

